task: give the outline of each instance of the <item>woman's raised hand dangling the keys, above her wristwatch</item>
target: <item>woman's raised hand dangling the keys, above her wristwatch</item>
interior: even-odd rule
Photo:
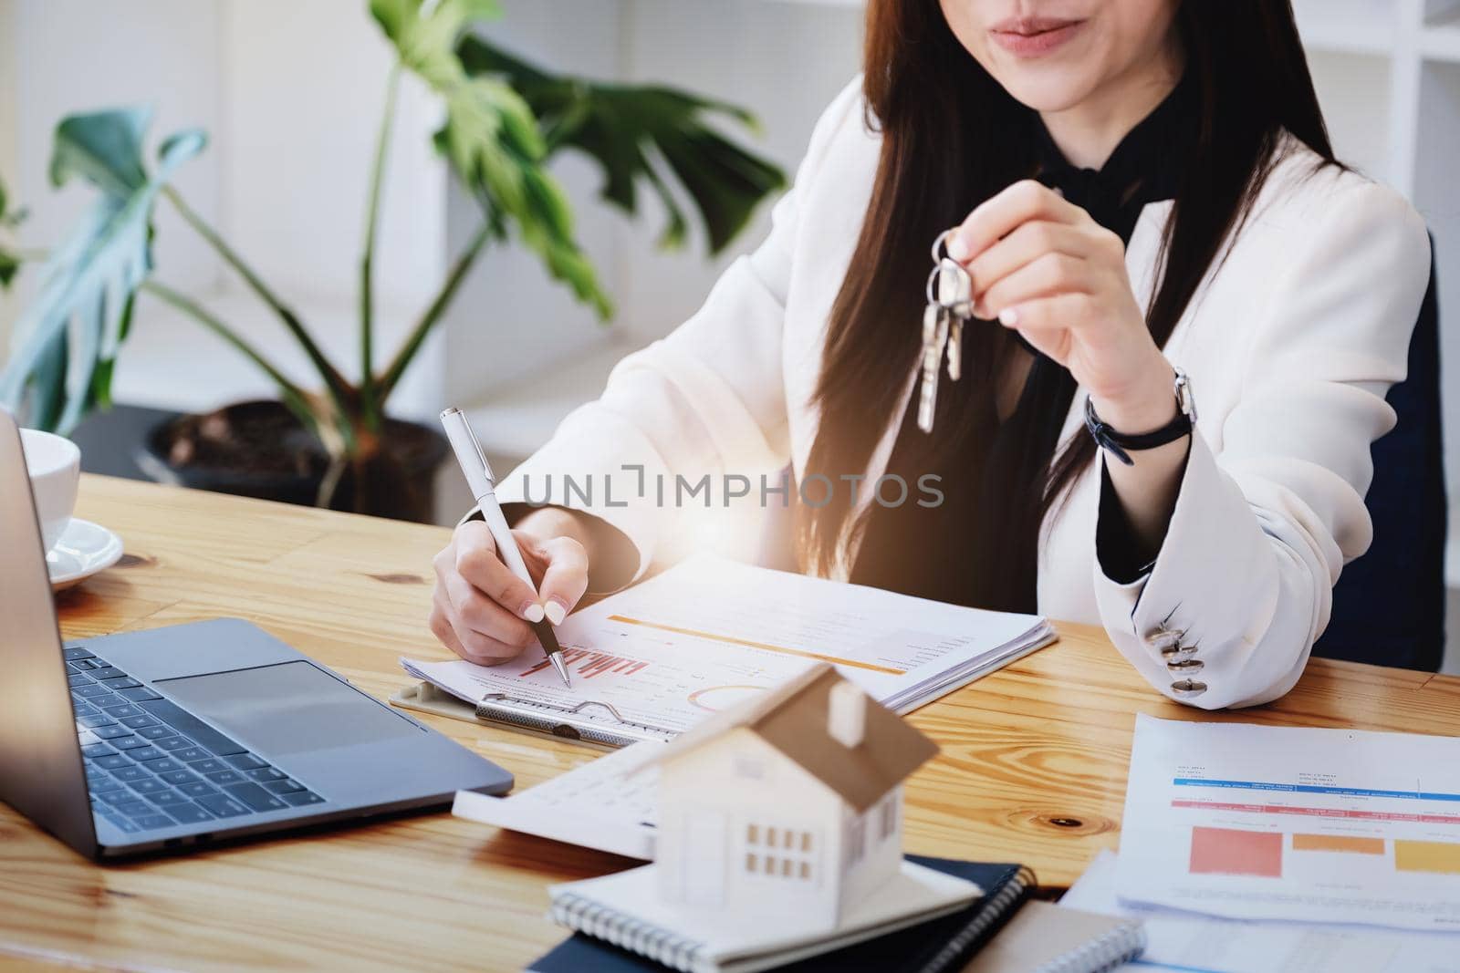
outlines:
[[[1126,247],[1089,213],[1015,182],[949,235],[948,255],[972,277],[974,314],[1067,368],[1111,426],[1142,433],[1175,416],[1171,366],[1132,292]]]

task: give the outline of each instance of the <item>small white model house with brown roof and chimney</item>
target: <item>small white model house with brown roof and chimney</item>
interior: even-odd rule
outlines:
[[[825,664],[718,713],[651,761],[660,896],[835,928],[901,868],[902,780],[934,753]]]

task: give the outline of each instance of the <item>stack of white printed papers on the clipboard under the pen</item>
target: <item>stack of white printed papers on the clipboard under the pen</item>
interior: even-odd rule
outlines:
[[[694,557],[558,627],[572,687],[540,651],[492,668],[402,659],[479,719],[670,740],[818,661],[907,713],[1054,640],[1035,616],[978,611]]]

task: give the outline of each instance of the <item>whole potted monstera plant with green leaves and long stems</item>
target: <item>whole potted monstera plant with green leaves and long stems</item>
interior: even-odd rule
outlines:
[[[330,360],[289,303],[172,185],[177,168],[204,149],[204,133],[172,134],[149,160],[143,144],[150,114],[124,108],[70,115],[55,130],[51,181],[64,185],[82,179],[96,191],[96,201],[41,268],[39,292],[16,322],[12,356],[0,372],[0,403],[23,406],[32,425],[61,432],[89,410],[107,406],[137,295],[145,293],[213,331],[267,373],[277,387],[280,413],[288,410],[285,419],[293,426],[274,436],[279,449],[299,448],[302,436],[304,448],[318,457],[318,468],[311,467],[314,502],[393,513],[393,496],[420,484],[404,476],[400,454],[410,446],[399,441],[407,423],[388,419],[387,403],[489,244],[518,241],[600,318],[612,315],[610,299],[574,236],[568,200],[548,171],[559,152],[580,152],[596,162],[602,198],[629,216],[638,212],[638,193],[647,187],[667,214],[660,238],[664,247],[680,247],[688,238],[691,220],[676,185],[694,204],[708,249],[718,252],[755,207],[785,184],[775,165],[717,128],[720,121],[753,128],[755,120],[743,109],[663,86],[600,83],[530,64],[474,32],[499,16],[495,0],[371,0],[369,12],[391,44],[396,64],[369,172],[356,366]],[[377,216],[397,89],[406,73],[441,99],[445,121],[435,144],[479,204],[480,228],[456,255],[400,347],[377,366]],[[228,322],[153,279],[150,244],[159,203],[175,209],[277,317],[311,362],[314,388],[286,378]],[[13,264],[0,251],[0,277],[9,273]],[[226,410],[190,419],[196,420],[194,432],[216,433],[228,425]],[[191,452],[184,449],[181,458]]]

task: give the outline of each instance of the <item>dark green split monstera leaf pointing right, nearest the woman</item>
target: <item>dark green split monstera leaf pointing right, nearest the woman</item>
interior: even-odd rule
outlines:
[[[667,214],[663,247],[683,245],[688,230],[670,179],[699,210],[712,254],[745,229],[761,200],[785,185],[781,169],[708,121],[720,115],[755,128],[755,118],[742,108],[672,88],[552,76],[476,35],[463,36],[457,54],[467,73],[502,77],[517,89],[546,130],[549,153],[572,147],[597,162],[604,200],[632,216],[637,185],[647,184]]]

